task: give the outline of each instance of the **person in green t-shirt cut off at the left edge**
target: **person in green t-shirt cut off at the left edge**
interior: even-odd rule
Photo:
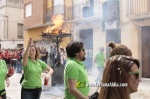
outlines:
[[[5,80],[7,86],[9,86],[10,81],[8,78],[13,75],[13,72],[12,74],[7,73],[8,71],[6,62],[0,59],[0,99],[6,99]]]

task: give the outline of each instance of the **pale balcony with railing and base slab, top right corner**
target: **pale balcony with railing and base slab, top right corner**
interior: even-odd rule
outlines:
[[[127,0],[126,7],[130,19],[150,18],[150,0]]]

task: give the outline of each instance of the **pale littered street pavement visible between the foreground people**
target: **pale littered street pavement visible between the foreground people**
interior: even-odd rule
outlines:
[[[91,73],[89,74],[90,83],[95,82],[95,76]],[[42,74],[42,81],[45,77],[45,74]],[[21,85],[19,80],[21,74],[15,73],[11,78],[11,84],[6,88],[7,90],[7,99],[21,99]],[[49,84],[51,85],[51,84]],[[96,87],[91,87],[90,94],[94,93]],[[43,86],[43,91],[41,94],[41,99],[63,99],[64,86]],[[142,82],[139,84],[139,90],[136,93],[131,95],[131,99],[150,99],[150,79],[142,79]]]

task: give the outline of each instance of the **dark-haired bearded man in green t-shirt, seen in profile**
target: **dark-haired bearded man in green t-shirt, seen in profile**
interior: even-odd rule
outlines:
[[[82,42],[71,42],[66,47],[68,60],[64,70],[65,99],[89,99],[87,72],[82,61],[85,52]]]

